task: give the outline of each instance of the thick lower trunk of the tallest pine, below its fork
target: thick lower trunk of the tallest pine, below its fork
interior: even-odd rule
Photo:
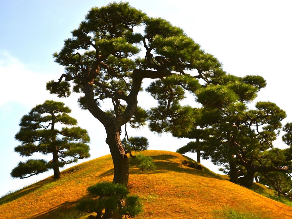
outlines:
[[[128,185],[129,179],[129,159],[121,143],[119,128],[109,126],[106,128],[107,138],[105,142],[109,145],[109,150],[114,163],[114,183]]]

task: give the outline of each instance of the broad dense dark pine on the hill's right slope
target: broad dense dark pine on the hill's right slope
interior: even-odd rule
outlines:
[[[265,84],[260,76],[228,75],[198,89],[197,101],[202,107],[194,109],[193,129],[188,135],[178,135],[198,140],[178,151],[202,151],[204,159],[211,158],[214,164],[225,166],[222,171],[230,175],[231,182],[246,187],[252,185],[256,173],[290,173],[292,157],[288,149],[273,146],[286,113],[272,102],[259,101],[255,109],[248,109],[247,103]],[[288,144],[290,128],[288,124],[284,128],[287,134],[283,139]]]

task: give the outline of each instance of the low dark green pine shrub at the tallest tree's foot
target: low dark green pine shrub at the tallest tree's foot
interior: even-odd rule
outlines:
[[[129,195],[124,185],[103,182],[87,190],[98,198],[80,201],[76,207],[80,211],[97,213],[96,217],[90,215],[89,218],[121,219],[124,215],[133,218],[142,211],[138,196]]]

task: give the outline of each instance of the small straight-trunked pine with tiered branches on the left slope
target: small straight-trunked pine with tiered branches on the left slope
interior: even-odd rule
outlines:
[[[58,179],[60,167],[90,157],[87,131],[76,126],[77,120],[68,115],[70,112],[71,109],[63,102],[46,100],[21,118],[20,131],[15,135],[21,145],[15,147],[14,151],[26,157],[37,152],[52,154],[53,159],[19,162],[11,171],[12,177],[23,179],[53,169],[54,178]],[[60,125],[65,127],[61,128]]]

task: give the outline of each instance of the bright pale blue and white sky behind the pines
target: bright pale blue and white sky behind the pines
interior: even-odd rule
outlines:
[[[71,116],[78,120],[79,126],[88,130],[91,137],[90,159],[109,154],[102,125],[89,112],[78,107],[78,95],[60,99],[50,95],[45,88],[47,81],[58,79],[64,72],[63,67],[54,62],[52,54],[60,51],[63,40],[71,37],[71,30],[84,20],[88,10],[109,2],[0,0],[0,197],[53,175],[49,171],[22,180],[10,176],[18,162],[27,159],[13,151],[20,144],[14,139],[19,131],[20,118],[45,100],[62,101],[72,109]],[[223,63],[227,73],[240,77],[247,74],[263,76],[267,86],[260,91],[256,101],[275,102],[287,113],[283,124],[292,122],[291,1],[128,2],[148,16],[162,17],[184,29],[202,49]],[[195,98],[190,96],[185,104],[196,105]],[[141,93],[138,105],[145,108],[155,106],[155,101]],[[150,150],[175,151],[190,141],[173,138],[169,133],[158,136],[147,127],[131,130],[129,134],[146,136]],[[280,139],[274,145],[285,147]],[[195,154],[187,156],[196,157]],[[51,160],[50,157],[47,159]],[[201,163],[218,173],[218,167],[210,161]]]

